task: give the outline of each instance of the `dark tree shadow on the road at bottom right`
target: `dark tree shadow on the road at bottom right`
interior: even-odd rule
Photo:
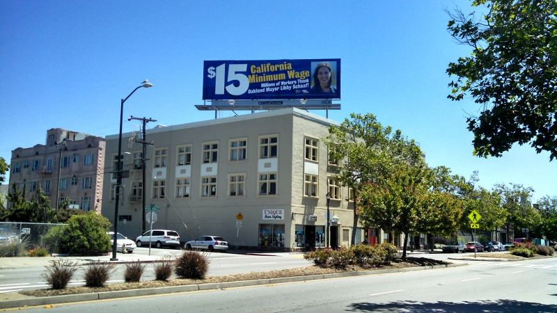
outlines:
[[[522,302],[517,300],[496,300],[476,302],[427,303],[421,301],[397,301],[391,303],[354,303],[347,308],[349,312],[557,312],[557,305]]]

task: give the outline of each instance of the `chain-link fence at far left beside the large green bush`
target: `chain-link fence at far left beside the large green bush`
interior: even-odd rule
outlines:
[[[0,222],[0,257],[25,256],[39,247],[55,252],[59,232],[51,230],[63,225],[67,224]]]

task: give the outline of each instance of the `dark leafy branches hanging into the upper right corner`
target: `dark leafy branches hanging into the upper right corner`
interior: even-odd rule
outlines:
[[[448,31],[471,56],[450,63],[448,98],[470,93],[480,115],[467,118],[474,154],[501,157],[513,143],[557,157],[557,1],[475,0],[479,19],[446,9]]]

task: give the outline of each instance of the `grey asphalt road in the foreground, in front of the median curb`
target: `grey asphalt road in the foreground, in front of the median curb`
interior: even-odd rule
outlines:
[[[557,312],[555,259],[54,305],[52,312]],[[30,307],[26,312],[43,312]]]

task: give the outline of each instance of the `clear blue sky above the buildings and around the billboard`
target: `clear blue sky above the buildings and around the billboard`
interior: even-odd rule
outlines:
[[[0,157],[45,143],[47,129],[118,134],[120,99],[144,79],[124,116],[178,125],[210,120],[203,104],[205,60],[340,58],[341,122],[373,113],[421,143],[430,166],[447,166],[481,186],[532,186],[556,195],[556,161],[529,146],[473,157],[471,99],[446,96],[449,62],[469,55],[446,31],[444,6],[470,1],[0,1]],[[313,113],[325,115],[324,111]],[[233,115],[221,113],[221,117]],[[139,130],[125,120],[124,131]]]

